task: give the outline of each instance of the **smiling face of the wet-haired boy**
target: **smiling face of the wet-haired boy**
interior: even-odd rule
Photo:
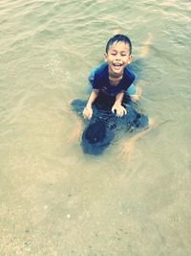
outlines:
[[[126,65],[132,60],[129,45],[124,42],[115,42],[109,47],[108,53],[104,55],[104,58],[108,62],[109,73],[121,76]]]

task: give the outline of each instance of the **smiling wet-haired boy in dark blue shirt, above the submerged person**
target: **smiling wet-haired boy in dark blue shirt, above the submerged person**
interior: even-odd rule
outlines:
[[[90,78],[93,91],[83,110],[84,118],[92,118],[92,105],[95,102],[102,102],[102,106],[107,105],[107,108],[111,107],[112,112],[116,112],[118,117],[126,114],[126,109],[122,105],[124,92],[135,80],[135,75],[126,68],[132,60],[131,54],[132,43],[127,36],[115,35],[109,39],[104,54],[107,63],[96,70],[94,79]]]

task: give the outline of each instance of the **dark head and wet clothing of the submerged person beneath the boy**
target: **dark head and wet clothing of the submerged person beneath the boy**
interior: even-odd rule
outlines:
[[[148,117],[138,113],[130,98],[124,94],[122,105],[127,114],[121,118],[111,111],[116,98],[99,93],[93,105],[93,117],[87,122],[81,138],[84,152],[90,154],[102,153],[112,142],[117,130],[132,132],[137,128],[148,127]],[[74,100],[72,107],[82,116],[87,101]]]

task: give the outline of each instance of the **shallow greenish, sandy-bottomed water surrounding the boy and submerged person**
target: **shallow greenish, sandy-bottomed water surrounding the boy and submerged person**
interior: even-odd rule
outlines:
[[[191,254],[190,13],[188,0],[1,0],[1,255]],[[133,68],[156,128],[130,156],[124,135],[88,156],[70,103],[117,31],[135,63],[153,38]]]

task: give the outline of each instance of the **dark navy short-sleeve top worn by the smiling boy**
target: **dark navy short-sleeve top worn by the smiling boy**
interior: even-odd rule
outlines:
[[[116,96],[117,93],[126,91],[134,80],[135,75],[129,68],[125,67],[121,81],[119,81],[117,86],[111,85],[109,81],[108,63],[103,63],[96,69],[95,79],[92,84],[94,89],[100,89],[109,96]]]

